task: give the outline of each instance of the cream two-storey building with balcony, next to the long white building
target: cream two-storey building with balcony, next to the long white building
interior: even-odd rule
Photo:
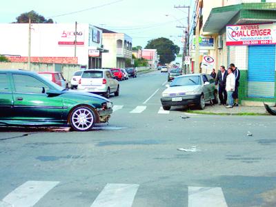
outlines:
[[[100,28],[103,31],[103,45],[108,52],[102,55],[103,68],[125,68],[126,59],[132,58],[132,38]]]

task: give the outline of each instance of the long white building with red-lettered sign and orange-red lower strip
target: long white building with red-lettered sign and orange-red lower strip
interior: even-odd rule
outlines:
[[[101,66],[102,31],[88,23],[2,23],[0,54],[10,61]],[[76,32],[77,31],[77,32]],[[77,40],[75,43],[75,39]]]

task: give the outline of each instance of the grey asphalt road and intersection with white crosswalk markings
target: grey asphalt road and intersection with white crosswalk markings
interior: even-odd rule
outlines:
[[[166,113],[166,77],[120,82],[90,132],[0,128],[0,206],[276,206],[275,117]]]

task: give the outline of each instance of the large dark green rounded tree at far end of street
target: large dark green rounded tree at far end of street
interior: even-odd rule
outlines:
[[[160,37],[148,41],[146,49],[157,49],[160,55],[161,64],[170,63],[175,60],[175,56],[179,53],[179,46],[175,45],[170,39]]]

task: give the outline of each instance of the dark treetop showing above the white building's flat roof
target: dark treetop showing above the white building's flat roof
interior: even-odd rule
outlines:
[[[54,23],[52,19],[46,19],[42,15],[31,10],[30,12],[25,12],[20,14],[16,19],[17,21],[13,23],[29,23],[29,18],[32,23]]]

